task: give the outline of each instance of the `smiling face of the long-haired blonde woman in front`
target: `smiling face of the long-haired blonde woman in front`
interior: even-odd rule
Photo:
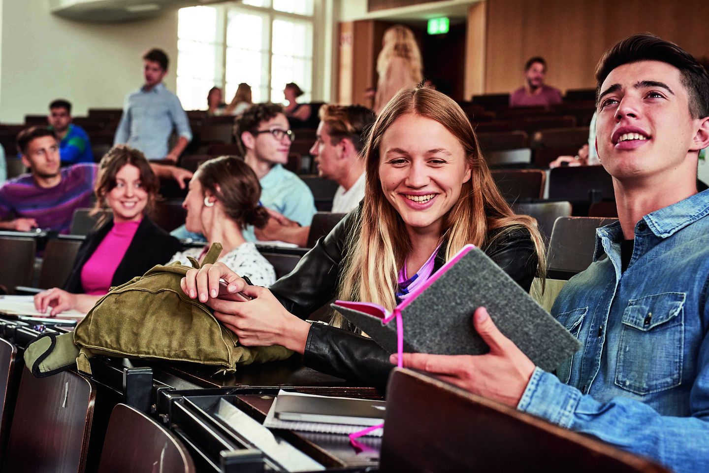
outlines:
[[[442,233],[443,218],[470,172],[463,146],[430,118],[403,115],[381,138],[381,189],[410,235]]]

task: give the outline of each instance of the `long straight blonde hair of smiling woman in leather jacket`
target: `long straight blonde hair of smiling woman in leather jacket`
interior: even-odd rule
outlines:
[[[447,242],[450,260],[464,245],[485,248],[493,240],[519,228],[529,231],[538,257],[537,275],[545,274],[545,250],[535,220],[515,215],[493,181],[481,154],[473,127],[450,97],[425,87],[401,89],[379,114],[369,133],[363,155],[367,163],[362,211],[347,241],[347,255],[340,279],[339,299],[368,301],[391,310],[396,306],[397,271],[411,252],[401,216],[384,196],[379,181],[381,138],[394,121],[407,113],[431,118],[452,133],[462,145],[471,178],[447,213],[441,240]],[[491,238],[490,230],[501,230]],[[342,316],[333,316],[342,326]]]

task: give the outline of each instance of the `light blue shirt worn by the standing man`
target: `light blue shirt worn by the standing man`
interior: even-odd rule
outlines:
[[[192,139],[187,113],[177,95],[164,84],[149,91],[141,87],[125,96],[113,145],[126,144],[142,151],[149,160],[162,160],[167,156],[173,129],[188,141]]]

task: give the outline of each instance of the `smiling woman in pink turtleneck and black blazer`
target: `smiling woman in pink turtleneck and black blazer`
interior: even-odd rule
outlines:
[[[110,208],[113,218],[86,235],[63,289],[35,296],[38,311],[55,316],[75,309],[88,312],[111,286],[162,265],[180,248],[177,238],[158,228],[145,213],[155,202],[160,182],[138,150],[113,147],[101,160],[96,180],[96,210]]]

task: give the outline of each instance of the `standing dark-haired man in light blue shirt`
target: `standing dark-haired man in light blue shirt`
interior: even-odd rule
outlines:
[[[126,144],[142,151],[148,160],[177,162],[192,139],[189,120],[177,95],[162,84],[167,55],[152,49],[143,56],[145,84],[125,97],[123,115],[113,145]],[[175,130],[179,138],[172,150],[167,143]]]

